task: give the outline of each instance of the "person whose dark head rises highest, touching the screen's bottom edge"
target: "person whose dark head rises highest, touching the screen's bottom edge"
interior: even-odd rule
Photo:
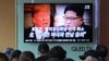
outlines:
[[[38,46],[39,57],[35,61],[46,61],[48,59],[49,46],[46,42],[41,42]]]

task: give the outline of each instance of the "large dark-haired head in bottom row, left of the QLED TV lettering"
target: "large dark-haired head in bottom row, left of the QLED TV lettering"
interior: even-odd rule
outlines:
[[[49,59],[56,58],[60,61],[64,61],[65,57],[66,57],[66,51],[61,46],[55,46],[49,51]]]

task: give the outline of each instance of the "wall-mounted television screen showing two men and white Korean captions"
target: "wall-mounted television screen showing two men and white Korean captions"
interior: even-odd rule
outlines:
[[[92,42],[93,3],[24,3],[24,42]]]

